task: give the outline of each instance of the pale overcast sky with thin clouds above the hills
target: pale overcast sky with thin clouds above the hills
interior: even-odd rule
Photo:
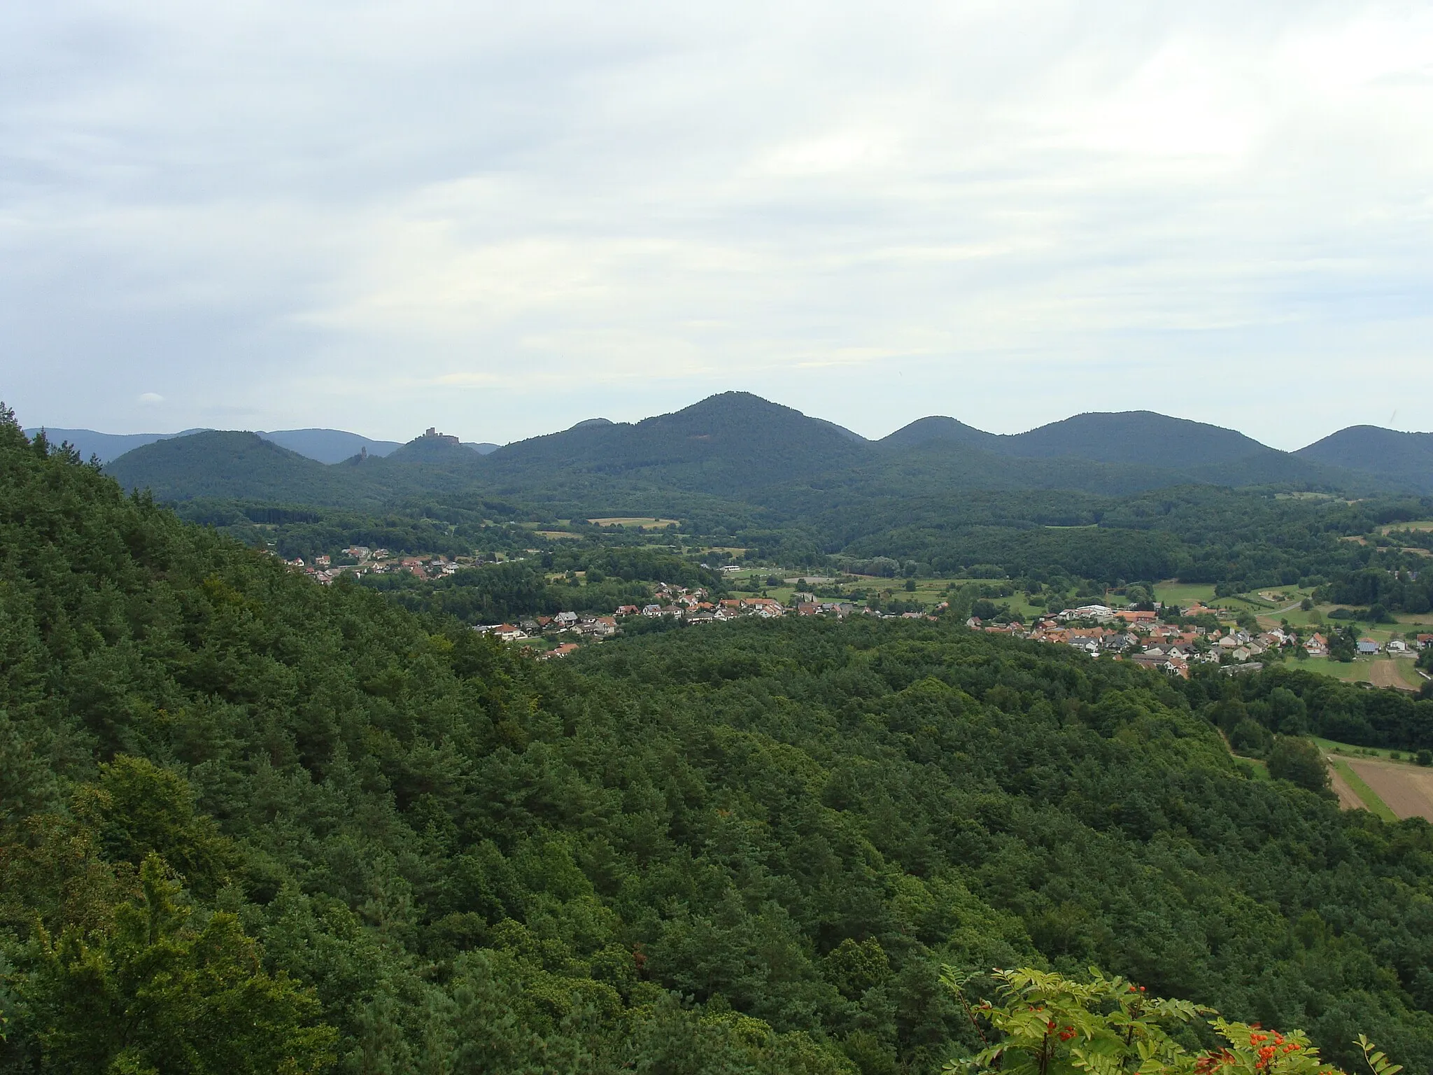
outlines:
[[[1433,4],[0,6],[0,400],[1433,430]]]

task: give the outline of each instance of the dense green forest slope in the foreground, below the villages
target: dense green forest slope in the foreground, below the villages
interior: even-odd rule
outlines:
[[[1433,1064],[1429,827],[1211,724],[1324,702],[909,621],[539,665],[13,420],[0,549],[6,1071],[933,1072],[1013,963]]]

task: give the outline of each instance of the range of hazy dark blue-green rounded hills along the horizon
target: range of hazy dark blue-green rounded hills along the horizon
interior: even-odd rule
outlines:
[[[338,433],[338,431],[330,431]],[[1377,430],[1387,443],[1419,436]],[[165,499],[222,496],[373,505],[431,493],[500,497],[555,512],[679,512],[691,497],[794,510],[795,503],[944,494],[960,489],[1070,489],[1123,494],[1181,483],[1287,486],[1363,494],[1433,492],[1419,456],[1278,452],[1242,433],[1151,411],[1080,414],[1022,434],[929,417],[878,441],[749,393],[722,393],[636,423],[590,419],[476,454],[451,437],[322,466],[261,454],[258,434],[191,434],[143,446],[109,470]],[[1341,434],[1338,434],[1341,436]],[[1361,434],[1367,437],[1374,434]],[[1407,439],[1413,440],[1409,441]],[[1337,439],[1328,439],[1338,443]],[[314,450],[314,440],[307,441]],[[1326,441],[1320,441],[1326,444]],[[226,459],[242,449],[254,467]],[[1318,452],[1314,452],[1318,449]],[[1323,453],[1323,457],[1320,457]],[[1348,467],[1337,459],[1363,463]],[[1379,469],[1387,457],[1397,462]]]

